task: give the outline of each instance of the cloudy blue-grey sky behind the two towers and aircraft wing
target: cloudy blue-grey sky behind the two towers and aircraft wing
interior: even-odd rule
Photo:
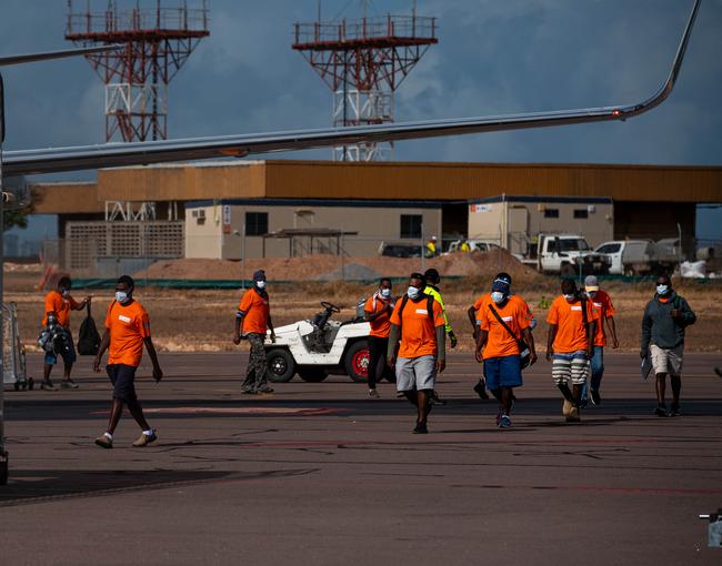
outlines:
[[[98,11],[107,6],[107,0],[90,2]],[[164,6],[179,2],[163,0]],[[76,3],[83,7],[86,0]],[[354,19],[360,3],[322,0],[322,18]],[[369,16],[409,13],[412,0],[367,4]],[[293,23],[313,21],[318,0],[210,0],[209,6],[211,36],[170,87],[169,137],[330,125],[330,90],[291,49]],[[439,44],[397,91],[397,121],[640,101],[666,78],[691,6],[691,0],[418,0],[419,14],[438,18]],[[2,0],[0,53],[69,47],[66,13],[66,0]],[[409,141],[397,144],[395,159],[722,165],[720,29],[722,0],[703,0],[680,80],[646,114],[626,122]],[[83,59],[2,72],[6,149],[104,140],[103,84]],[[705,209],[699,220],[699,235],[722,240],[722,209]]]

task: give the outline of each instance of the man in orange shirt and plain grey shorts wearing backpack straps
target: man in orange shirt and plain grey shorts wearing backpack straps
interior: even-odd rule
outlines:
[[[435,377],[447,366],[443,310],[433,296],[423,293],[425,285],[421,273],[411,274],[409,290],[391,314],[387,350],[389,366],[397,368],[397,391],[417,406],[414,434],[429,432],[427,417]]]

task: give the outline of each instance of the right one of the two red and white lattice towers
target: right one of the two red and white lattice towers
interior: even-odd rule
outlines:
[[[320,12],[320,10],[319,10]],[[360,20],[295,23],[293,49],[333,92],[333,125],[393,122],[393,93],[430,46],[438,43],[437,19],[387,14]],[[363,143],[333,151],[337,161],[383,161],[392,145]]]

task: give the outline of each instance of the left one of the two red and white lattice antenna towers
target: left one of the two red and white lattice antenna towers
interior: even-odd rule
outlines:
[[[78,46],[124,43],[126,49],[86,55],[106,83],[106,141],[168,138],[168,83],[199,41],[210,34],[205,0],[189,9],[185,0],[169,8],[140,0],[121,10],[108,0],[104,11],[73,11],[68,0],[66,39]]]

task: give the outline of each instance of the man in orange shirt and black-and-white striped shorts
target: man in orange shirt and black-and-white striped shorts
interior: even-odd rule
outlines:
[[[580,295],[573,280],[562,281],[562,295],[549,310],[546,360],[552,360],[552,376],[564,396],[562,414],[566,422],[579,422],[582,387],[586,382],[588,361],[594,353],[593,336],[599,312],[585,295]],[[569,384],[572,384],[572,390]]]

